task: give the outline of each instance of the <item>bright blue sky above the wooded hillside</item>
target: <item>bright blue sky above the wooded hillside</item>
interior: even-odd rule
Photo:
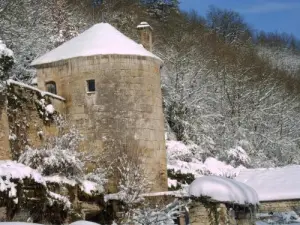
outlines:
[[[205,15],[210,5],[239,12],[253,29],[300,38],[300,0],[180,0],[181,9]]]

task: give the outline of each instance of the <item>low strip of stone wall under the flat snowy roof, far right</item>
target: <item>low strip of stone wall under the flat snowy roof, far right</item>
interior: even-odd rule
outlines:
[[[300,210],[300,200],[260,202],[259,209],[258,209],[260,213],[287,212],[287,211],[299,211],[299,210]]]

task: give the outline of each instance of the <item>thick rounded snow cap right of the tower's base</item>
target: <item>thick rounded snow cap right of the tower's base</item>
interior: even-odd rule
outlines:
[[[220,202],[259,204],[255,190],[241,182],[217,176],[204,176],[194,180],[189,187],[194,197],[210,197]]]

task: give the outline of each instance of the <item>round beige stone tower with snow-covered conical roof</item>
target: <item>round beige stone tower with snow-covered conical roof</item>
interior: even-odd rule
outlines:
[[[167,190],[162,60],[107,23],[36,59],[38,88],[66,99],[83,150],[140,152],[152,191]],[[113,155],[113,154],[112,154]]]

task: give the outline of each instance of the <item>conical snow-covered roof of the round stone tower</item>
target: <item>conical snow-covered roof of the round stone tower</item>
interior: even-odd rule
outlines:
[[[34,60],[37,66],[61,60],[95,55],[135,55],[161,60],[108,23],[95,24],[77,37]]]

